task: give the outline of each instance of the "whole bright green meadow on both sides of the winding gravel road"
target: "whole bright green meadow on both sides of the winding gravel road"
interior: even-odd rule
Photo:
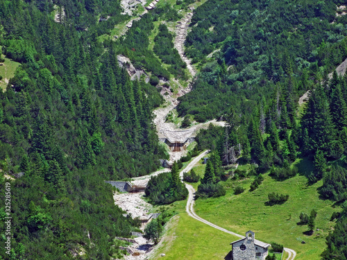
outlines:
[[[305,159],[296,163],[301,173],[311,170]],[[240,168],[249,167],[245,165]],[[199,162],[194,171],[203,177],[205,164]],[[265,173],[262,184],[250,192],[253,178],[222,182],[226,187],[226,196],[196,200],[196,214],[238,234],[252,230],[260,241],[280,243],[285,248],[295,250],[298,260],[319,259],[325,249],[325,237],[332,232],[335,225],[335,221],[330,221],[330,217],[334,211],[340,210],[335,207],[334,202],[319,198],[318,191],[322,181],[310,186],[307,185],[304,175],[296,175],[279,182]],[[192,185],[197,189],[198,183]],[[233,188],[237,185],[246,190],[234,195]],[[267,196],[271,192],[289,194],[289,200],[282,205],[266,206]],[[174,202],[170,207],[177,211],[178,215],[170,220],[162,244],[151,259],[159,258],[162,253],[166,254],[166,259],[223,259],[231,250],[230,242],[237,240],[237,237],[189,217],[185,212],[186,203],[186,200]],[[312,209],[318,214],[314,233],[310,236],[306,233],[307,225],[297,223],[300,221],[301,212],[310,214]],[[280,255],[276,257],[280,259]],[[287,252],[284,252],[282,259],[286,258]]]

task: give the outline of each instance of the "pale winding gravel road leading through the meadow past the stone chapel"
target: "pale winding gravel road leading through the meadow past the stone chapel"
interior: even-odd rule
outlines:
[[[198,155],[196,158],[194,158],[192,160],[192,162],[190,162],[182,171],[180,171],[180,178],[182,180],[183,178],[183,173],[188,172],[190,170],[192,170],[192,168],[194,167],[194,165],[201,159],[203,158],[205,155],[207,155],[210,152],[210,150],[205,150],[203,151],[203,153],[201,153],[200,155]],[[237,234],[235,232],[231,232],[223,227],[219,227],[217,225],[214,225],[213,223],[210,223],[208,220],[205,220],[201,217],[199,217],[198,215],[196,215],[195,211],[194,211],[194,193],[195,193],[195,189],[192,187],[192,185],[189,185],[187,183],[185,183],[185,187],[187,187],[188,191],[189,191],[189,195],[188,195],[188,200],[187,200],[187,206],[185,207],[185,211],[187,211],[187,214],[189,216],[191,216],[192,218],[195,218],[196,220],[201,221],[202,223],[209,225],[210,227],[214,227],[215,229],[219,229],[223,232],[226,232],[228,234],[232,234],[233,236],[237,236],[241,239],[244,238],[244,236]],[[286,260],[294,260],[296,257],[296,252],[290,248],[283,248],[285,250],[285,252],[288,252],[288,257]]]

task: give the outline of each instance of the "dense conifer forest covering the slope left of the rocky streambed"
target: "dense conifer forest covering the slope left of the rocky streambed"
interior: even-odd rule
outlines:
[[[115,236],[137,230],[103,180],[148,174],[166,157],[152,125],[162,98],[130,82],[115,42],[97,40],[120,12],[119,1],[0,1],[2,52],[21,63],[0,92],[0,168],[24,174],[11,182],[11,259],[109,259]]]

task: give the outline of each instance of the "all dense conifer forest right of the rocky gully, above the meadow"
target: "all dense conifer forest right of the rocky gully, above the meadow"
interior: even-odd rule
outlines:
[[[201,131],[199,148],[217,151],[223,165],[255,165],[251,175],[270,170],[276,180],[296,175],[292,163],[308,159],[307,185],[323,179],[321,198],[346,203],[347,81],[335,71],[347,58],[340,4],[208,1],[196,10],[186,46],[201,72],[178,112],[228,121],[224,130]],[[298,103],[305,92],[308,101]],[[333,218],[337,229],[322,257],[344,259],[345,210]]]

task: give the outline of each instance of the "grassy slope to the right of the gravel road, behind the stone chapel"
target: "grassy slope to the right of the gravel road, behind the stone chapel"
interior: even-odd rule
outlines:
[[[228,186],[234,186],[234,182],[237,181],[228,182]],[[247,188],[244,193],[235,196],[230,188],[224,197],[198,200],[196,213],[239,234],[251,229],[261,241],[281,243],[296,250],[296,259],[319,259],[319,254],[325,248],[325,236],[335,225],[329,221],[330,216],[338,210],[332,208],[331,201],[319,199],[317,189],[321,187],[321,181],[307,187],[307,179],[301,175],[277,182],[266,174],[264,182],[253,192],[248,191],[252,180],[239,182]],[[273,191],[289,194],[289,200],[283,205],[265,206],[268,193]],[[307,225],[296,223],[301,211],[310,214],[311,209],[318,211],[316,228],[319,231],[306,236],[303,232],[307,231]],[[301,241],[306,243],[302,244]]]

